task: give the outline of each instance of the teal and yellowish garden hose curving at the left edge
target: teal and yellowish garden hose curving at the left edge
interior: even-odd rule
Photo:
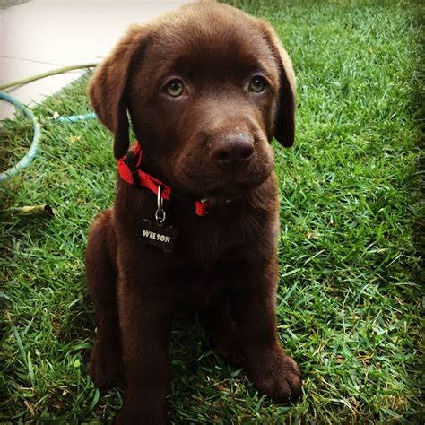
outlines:
[[[29,151],[22,158],[22,160],[20,160],[17,164],[15,164],[10,169],[7,169],[6,171],[0,173],[0,183],[3,182],[4,180],[8,179],[8,178],[13,177],[19,171],[21,171],[22,169],[24,169],[25,167],[28,167],[30,165],[31,160],[34,159],[37,151],[39,150],[39,138],[40,138],[40,135],[41,135],[39,121],[38,121],[37,117],[31,112],[30,108],[27,108],[19,100],[14,99],[12,96],[9,96],[7,93],[4,93],[2,90],[10,89],[12,87],[21,86],[23,84],[27,84],[28,82],[34,82],[36,80],[48,77],[50,75],[62,74],[62,73],[66,73],[68,71],[73,71],[74,69],[92,68],[96,65],[97,64],[65,66],[63,68],[55,69],[53,71],[48,71],[47,73],[33,75],[31,77],[24,78],[22,80],[17,80],[15,82],[9,82],[7,84],[0,86],[0,99],[5,100],[6,102],[12,103],[15,107],[20,108],[22,110],[22,112],[27,117],[30,118],[32,126],[34,128],[34,134],[33,134],[33,137],[32,137],[32,143],[30,145]],[[80,121],[82,119],[95,118],[95,117],[96,117],[96,114],[94,112],[91,112],[91,113],[85,114],[85,115],[74,115],[74,116],[71,116],[71,117],[58,117],[57,121],[75,122],[75,121]]]

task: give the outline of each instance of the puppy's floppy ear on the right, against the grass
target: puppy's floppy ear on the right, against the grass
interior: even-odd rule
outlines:
[[[265,40],[272,48],[273,56],[279,65],[280,92],[279,109],[274,122],[274,137],[283,146],[291,146],[295,139],[295,108],[296,108],[296,80],[291,59],[282,47],[281,40],[272,26],[260,20],[261,30]]]

